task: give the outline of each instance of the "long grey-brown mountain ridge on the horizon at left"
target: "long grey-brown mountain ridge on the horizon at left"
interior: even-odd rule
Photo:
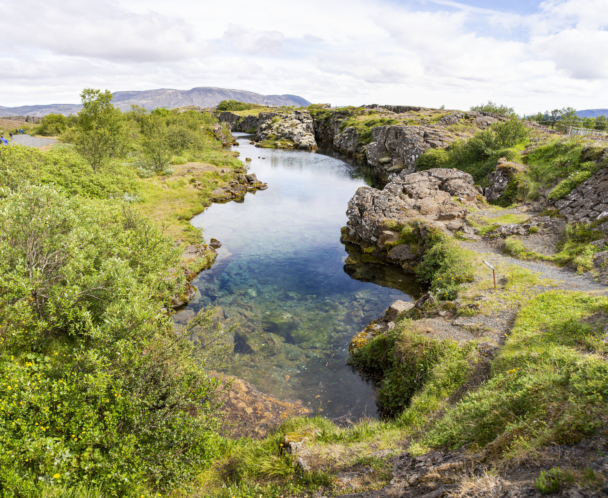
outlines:
[[[308,100],[298,95],[261,95],[246,90],[231,90],[227,88],[215,88],[215,86],[198,86],[191,90],[176,90],[171,88],[159,88],[156,90],[114,92],[114,105],[128,111],[131,104],[137,104],[146,109],[157,107],[183,107],[186,105],[198,105],[201,107],[213,107],[222,100],[240,100],[262,105],[310,105]],[[79,104],[49,104],[49,105],[22,105],[19,107],[0,106],[0,116],[44,116],[51,112],[67,114],[80,111]]]

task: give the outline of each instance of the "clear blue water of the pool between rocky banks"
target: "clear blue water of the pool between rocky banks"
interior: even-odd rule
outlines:
[[[227,325],[238,324],[227,372],[280,399],[302,399],[320,415],[373,416],[371,387],[345,365],[348,344],[392,302],[411,300],[419,289],[412,275],[353,246],[347,263],[368,263],[345,265],[347,202],[371,185],[373,170],[323,151],[255,148],[237,136],[233,149],[252,159],[250,171],[268,190],[193,218],[207,240],[223,246],[192,282],[198,292],[176,322],[219,306]]]

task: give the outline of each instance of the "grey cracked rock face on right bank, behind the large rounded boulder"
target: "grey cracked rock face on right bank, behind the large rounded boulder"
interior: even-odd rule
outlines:
[[[367,161],[382,179],[395,178],[399,173],[412,173],[418,157],[431,148],[446,148],[454,138],[441,128],[430,126],[376,126],[373,141],[367,145]]]

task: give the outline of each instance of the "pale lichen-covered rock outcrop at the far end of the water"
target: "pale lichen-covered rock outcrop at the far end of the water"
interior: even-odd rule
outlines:
[[[260,112],[256,147],[316,149],[313,118],[306,111]]]

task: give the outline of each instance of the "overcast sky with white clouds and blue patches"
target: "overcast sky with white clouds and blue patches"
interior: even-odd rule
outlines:
[[[332,105],[608,108],[608,0],[4,2],[0,105],[218,86]]]

